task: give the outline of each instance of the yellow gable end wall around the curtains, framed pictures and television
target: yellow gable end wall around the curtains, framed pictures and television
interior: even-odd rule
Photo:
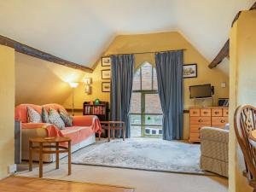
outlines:
[[[104,55],[111,54],[129,54],[135,52],[148,52],[172,49],[186,49],[184,51],[184,63],[197,63],[198,78],[184,79],[184,108],[189,108],[195,105],[195,102],[189,99],[189,85],[193,84],[212,84],[215,86],[216,94],[213,96],[214,104],[217,104],[218,97],[229,97],[229,77],[222,73],[218,68],[209,69],[209,62],[183,38],[178,32],[161,32],[142,35],[121,35],[117,36],[113,43],[108,47]],[[149,61],[154,65],[154,54],[135,55],[136,67]],[[108,68],[108,67],[104,67]],[[81,84],[75,90],[75,107],[82,108],[84,101],[95,100],[99,98],[102,101],[109,101],[109,94],[102,93],[101,79],[101,61],[96,65],[96,70],[91,74],[93,78],[92,95],[88,96],[84,93],[84,85]],[[105,80],[104,80],[105,81]],[[220,83],[226,82],[227,87],[221,88]],[[207,103],[209,104],[209,102]],[[211,104],[211,102],[210,102]],[[64,106],[70,108],[72,105],[72,96],[69,96]],[[184,115],[184,138],[189,137],[189,115]]]

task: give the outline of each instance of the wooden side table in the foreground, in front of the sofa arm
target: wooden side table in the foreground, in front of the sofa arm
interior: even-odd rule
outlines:
[[[68,143],[67,147],[60,143]],[[38,143],[38,146],[33,146]],[[55,143],[55,145],[50,145]],[[48,148],[55,148],[50,150]],[[35,137],[29,139],[29,171],[32,172],[32,153],[39,154],[39,177],[43,177],[43,154],[56,154],[56,169],[59,169],[61,153],[68,154],[68,175],[71,175],[71,139],[69,137]]]

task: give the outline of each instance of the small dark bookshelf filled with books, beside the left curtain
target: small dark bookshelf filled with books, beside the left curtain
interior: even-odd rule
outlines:
[[[108,120],[108,111],[108,102],[100,102],[98,105],[95,102],[84,102],[84,115],[96,115],[101,121],[106,121]]]

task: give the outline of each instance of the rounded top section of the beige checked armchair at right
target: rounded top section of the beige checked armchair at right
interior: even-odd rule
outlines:
[[[209,140],[218,143],[229,143],[228,130],[215,128],[215,127],[202,127],[200,130],[201,140]]]

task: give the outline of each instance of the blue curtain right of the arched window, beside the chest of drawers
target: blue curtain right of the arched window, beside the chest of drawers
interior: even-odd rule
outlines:
[[[183,50],[155,54],[163,139],[183,137]]]

